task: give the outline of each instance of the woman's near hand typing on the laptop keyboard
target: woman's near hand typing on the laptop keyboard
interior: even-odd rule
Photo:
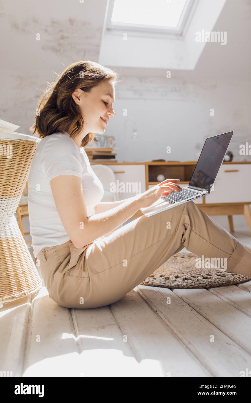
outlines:
[[[137,196],[137,199],[141,202],[141,208],[149,207],[154,202],[156,202],[161,196],[169,195],[174,190],[180,192],[182,187],[180,187],[177,183],[180,182],[180,179],[165,179],[165,181],[158,183]]]

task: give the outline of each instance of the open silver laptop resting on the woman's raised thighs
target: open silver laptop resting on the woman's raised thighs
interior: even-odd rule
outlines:
[[[173,191],[167,196],[162,196],[149,207],[140,210],[146,216],[153,216],[190,202],[211,192],[214,181],[224,160],[233,131],[208,137],[203,145],[201,154],[193,171],[189,185],[183,187],[179,192]]]

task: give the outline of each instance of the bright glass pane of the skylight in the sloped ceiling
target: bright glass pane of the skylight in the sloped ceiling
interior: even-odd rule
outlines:
[[[114,0],[113,24],[176,28],[187,0]]]

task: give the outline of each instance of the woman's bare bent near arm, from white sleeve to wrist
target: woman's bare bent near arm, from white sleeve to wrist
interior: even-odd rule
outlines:
[[[135,196],[114,202],[109,212],[87,217],[81,177],[58,175],[50,181],[50,185],[60,220],[77,248],[111,233],[143,207],[140,197]]]

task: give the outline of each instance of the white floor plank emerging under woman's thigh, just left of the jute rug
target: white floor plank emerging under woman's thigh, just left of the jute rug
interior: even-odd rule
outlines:
[[[137,292],[110,308],[146,376],[211,376]]]

